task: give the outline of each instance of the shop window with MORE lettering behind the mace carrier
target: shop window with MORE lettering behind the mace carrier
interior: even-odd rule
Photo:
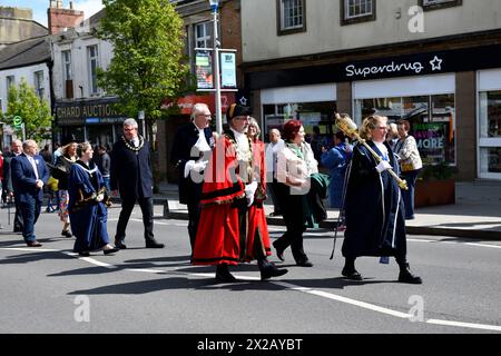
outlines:
[[[411,123],[423,164],[455,164],[454,95],[374,98],[355,100],[355,121],[381,115],[389,122],[405,119]]]

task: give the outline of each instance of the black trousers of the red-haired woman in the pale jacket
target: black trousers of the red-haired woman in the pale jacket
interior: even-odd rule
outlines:
[[[287,231],[275,240],[275,247],[285,249],[291,246],[294,259],[301,263],[307,259],[303,248],[303,233],[306,230],[304,218],[304,196],[291,195],[291,188],[282,182],[277,185],[275,194],[282,207]]]

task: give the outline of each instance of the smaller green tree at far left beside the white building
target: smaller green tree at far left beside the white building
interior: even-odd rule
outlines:
[[[21,78],[19,86],[9,88],[7,111],[3,121],[10,125],[17,136],[22,135],[22,128],[13,126],[13,118],[19,116],[24,123],[26,139],[39,141],[50,137],[52,116],[46,100],[40,99],[35,87],[31,87]]]

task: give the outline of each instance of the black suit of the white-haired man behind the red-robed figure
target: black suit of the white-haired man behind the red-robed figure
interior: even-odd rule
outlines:
[[[205,138],[210,148],[214,147],[213,130],[210,128],[204,129]],[[174,139],[173,149],[170,152],[170,162],[178,168],[179,172],[179,202],[188,206],[188,234],[189,243],[191,244],[191,251],[195,247],[195,237],[197,235],[198,220],[200,219],[200,197],[203,181],[193,181],[191,176],[185,178],[185,166],[188,160],[198,160],[200,155],[197,149],[194,149],[198,141],[198,129],[191,122],[179,127]],[[200,172],[202,176],[202,172]]]

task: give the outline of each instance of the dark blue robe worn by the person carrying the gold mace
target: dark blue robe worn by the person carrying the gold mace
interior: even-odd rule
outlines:
[[[374,142],[369,146],[380,156]],[[399,164],[390,146],[390,164],[399,174]],[[405,256],[405,219],[399,185],[389,171],[377,174],[377,162],[363,146],[353,149],[345,199],[346,231],[342,253],[344,257]]]

